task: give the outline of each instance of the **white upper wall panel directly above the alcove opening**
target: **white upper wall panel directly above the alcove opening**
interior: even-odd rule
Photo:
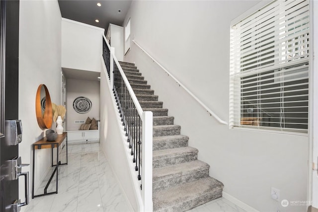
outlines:
[[[100,72],[104,29],[62,18],[62,67]]]

